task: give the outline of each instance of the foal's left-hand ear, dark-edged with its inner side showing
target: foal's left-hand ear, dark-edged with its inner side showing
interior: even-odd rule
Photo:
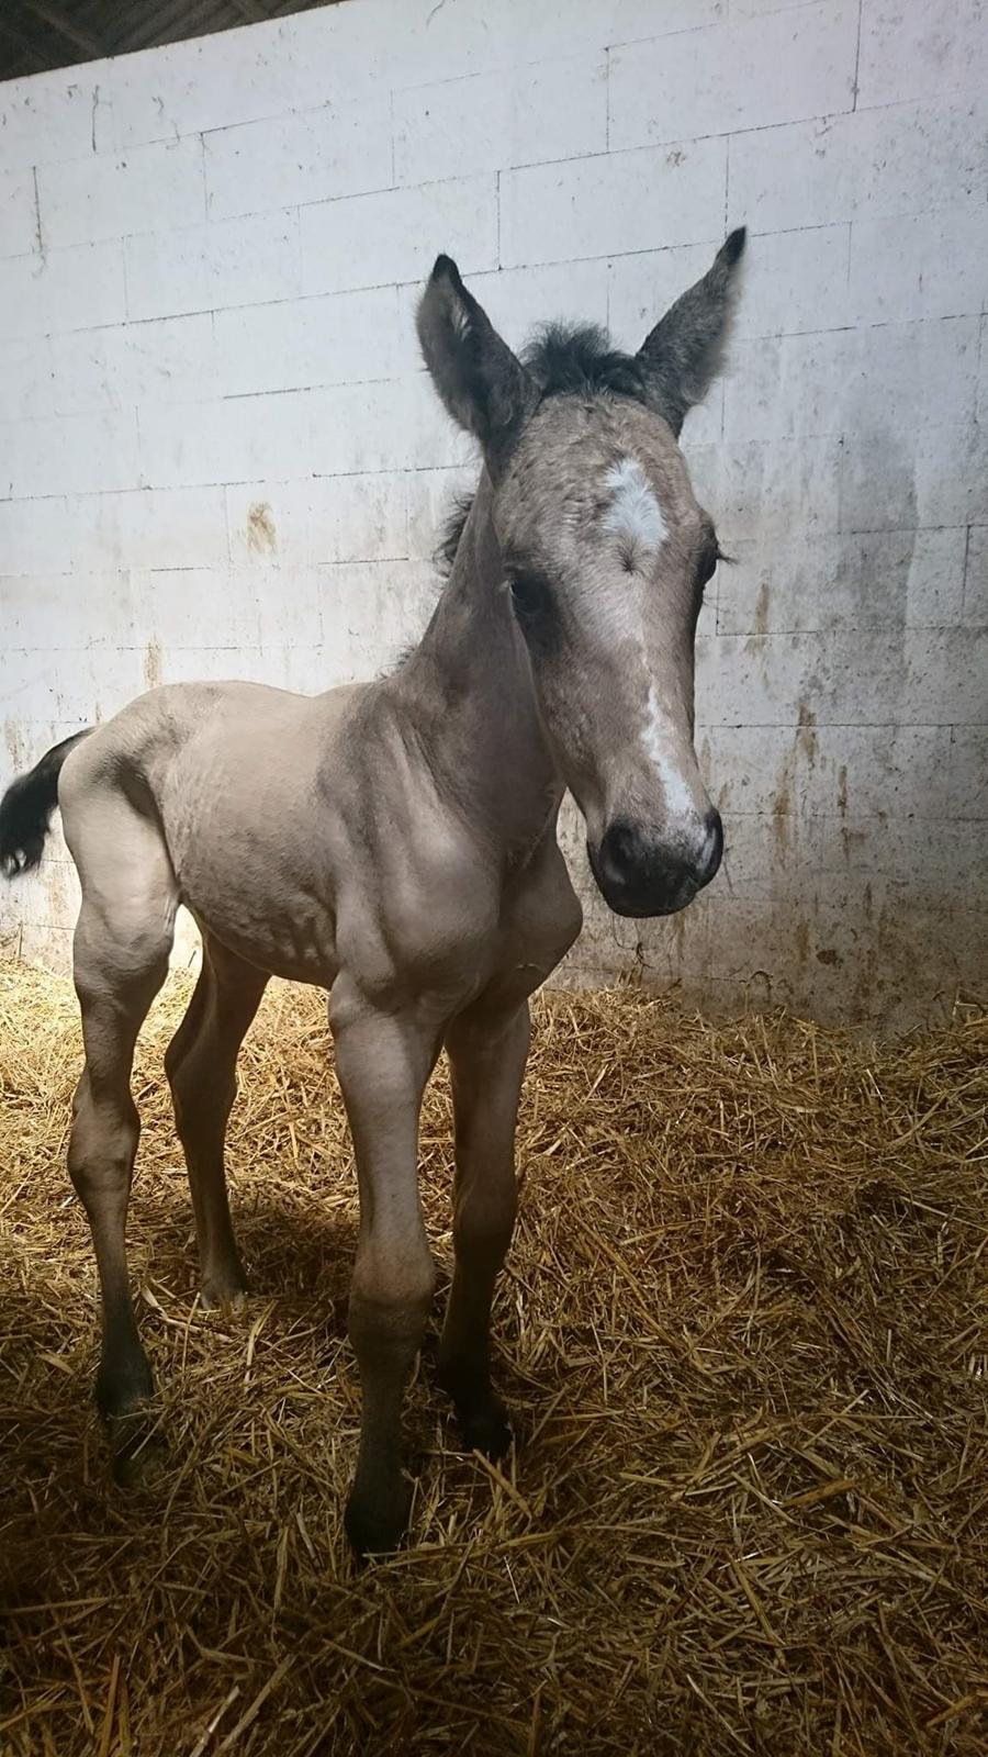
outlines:
[[[447,409],[476,434],[498,474],[538,402],[538,387],[462,285],[452,257],[436,257],[418,306],[418,341]]]

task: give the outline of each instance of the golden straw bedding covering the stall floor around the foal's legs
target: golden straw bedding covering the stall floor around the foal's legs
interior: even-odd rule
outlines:
[[[4,1753],[881,1757],[988,1748],[988,1021],[884,1049],[540,1001],[496,1307],[520,1444],[408,1399],[413,1546],[341,1530],[355,1202],[320,996],[272,986],[230,1132],[246,1312],[193,1304],[139,1049],[132,1272],[167,1472],[107,1479],[63,1172],[67,984],[0,968]],[[441,1279],[448,1089],[422,1130]]]

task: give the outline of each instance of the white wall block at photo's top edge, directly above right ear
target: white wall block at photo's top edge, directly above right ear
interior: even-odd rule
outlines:
[[[610,146],[659,146],[849,111],[856,51],[853,0],[731,18],[614,49]]]

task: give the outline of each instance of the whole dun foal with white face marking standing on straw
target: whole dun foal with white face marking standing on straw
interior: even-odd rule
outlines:
[[[457,1170],[440,1374],[466,1444],[506,1448],[489,1318],[515,1221],[527,1001],[580,931],[556,842],[563,792],[622,915],[682,908],[721,861],[693,748],[693,641],[717,538],[677,437],[717,369],[742,248],[733,232],[635,357],[596,330],[550,329],[522,360],[440,257],[418,336],[483,471],[415,652],[387,678],[315,698],[155,689],[7,791],[4,870],[37,864],[58,803],[83,886],[86,1061],[69,1170],[100,1274],[97,1400],[118,1472],[134,1467],[153,1395],[125,1256],[130,1070],[179,903],[202,929],[202,973],[167,1075],[204,1304],[246,1288],[223,1174],[243,1037],[271,973],[315,982],[331,989],[360,1191],[352,1543],[394,1548],[408,1522],[401,1402],[434,1284],[417,1133],[443,1047]]]

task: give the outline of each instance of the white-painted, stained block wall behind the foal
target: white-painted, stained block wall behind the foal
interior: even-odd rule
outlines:
[[[654,928],[591,900],[573,970],[984,993],[986,65],[983,0],[345,0],[0,88],[0,780],[162,678],[315,691],[422,625],[469,457],[413,344],[438,249],[513,343],[636,346],[747,221],[684,436],[738,557],[700,624],[726,871]],[[46,959],[54,854],[0,905]]]

